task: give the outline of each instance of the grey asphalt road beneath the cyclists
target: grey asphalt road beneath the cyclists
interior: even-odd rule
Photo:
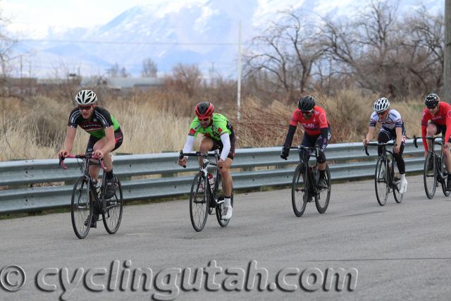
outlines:
[[[126,206],[118,233],[84,240],[70,214],[2,220],[0,300],[450,300],[451,197],[407,180],[384,207],[371,180],[334,184],[326,214],[300,218],[290,190],[237,194],[229,226],[200,233],[187,199]]]

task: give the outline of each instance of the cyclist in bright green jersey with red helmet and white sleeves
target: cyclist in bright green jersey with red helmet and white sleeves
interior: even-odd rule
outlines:
[[[232,217],[232,205],[230,197],[232,195],[232,176],[230,176],[230,166],[232,166],[235,156],[235,134],[233,126],[230,124],[226,116],[213,113],[214,106],[209,102],[201,102],[196,105],[196,117],[190,125],[190,133],[183,147],[183,152],[191,152],[194,145],[194,138],[198,133],[204,135],[200,142],[199,152],[210,152],[219,149],[221,152],[218,161],[219,173],[221,174],[224,203],[223,203],[223,219],[227,220]],[[178,164],[185,166],[187,157],[180,159]],[[199,161],[202,164],[202,160]],[[209,180],[213,175],[209,173]]]

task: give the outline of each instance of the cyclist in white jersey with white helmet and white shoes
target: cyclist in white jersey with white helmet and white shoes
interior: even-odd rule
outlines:
[[[404,152],[404,145],[406,141],[406,130],[404,128],[404,121],[402,121],[400,112],[395,109],[390,109],[390,102],[385,97],[382,97],[373,104],[373,113],[369,120],[369,129],[364,138],[364,145],[368,145],[376,130],[376,123],[381,123],[381,130],[378,135],[378,142],[388,142],[395,140],[393,147],[393,156],[395,157],[397,168],[401,175],[400,193],[407,191],[406,180],[406,166],[404,159],[402,159],[402,152]],[[378,155],[381,156],[383,147],[378,147]]]

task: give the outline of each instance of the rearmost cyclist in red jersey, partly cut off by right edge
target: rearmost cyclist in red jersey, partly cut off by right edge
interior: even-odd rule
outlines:
[[[440,102],[437,94],[431,93],[424,99],[426,108],[423,110],[421,117],[421,136],[425,137],[442,134],[445,137],[445,144],[442,147],[443,161],[446,170],[450,173],[451,154],[450,154],[450,136],[451,136],[451,105],[446,102]],[[431,147],[431,141],[423,138],[424,156],[428,154]],[[430,165],[431,166],[431,165]],[[451,188],[451,175],[448,174],[447,188]]]

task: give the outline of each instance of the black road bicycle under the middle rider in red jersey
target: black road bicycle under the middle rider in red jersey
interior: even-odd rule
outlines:
[[[316,187],[319,180],[318,165],[311,165],[309,158],[314,157],[318,160],[318,147],[290,147],[299,152],[299,164],[295,169],[291,187],[291,203],[296,216],[302,216],[308,202],[315,200],[316,209],[320,214],[326,212],[330,199],[330,170],[326,165],[327,188],[319,189]],[[304,152],[301,150],[304,149]],[[304,156],[302,156],[304,154]]]

